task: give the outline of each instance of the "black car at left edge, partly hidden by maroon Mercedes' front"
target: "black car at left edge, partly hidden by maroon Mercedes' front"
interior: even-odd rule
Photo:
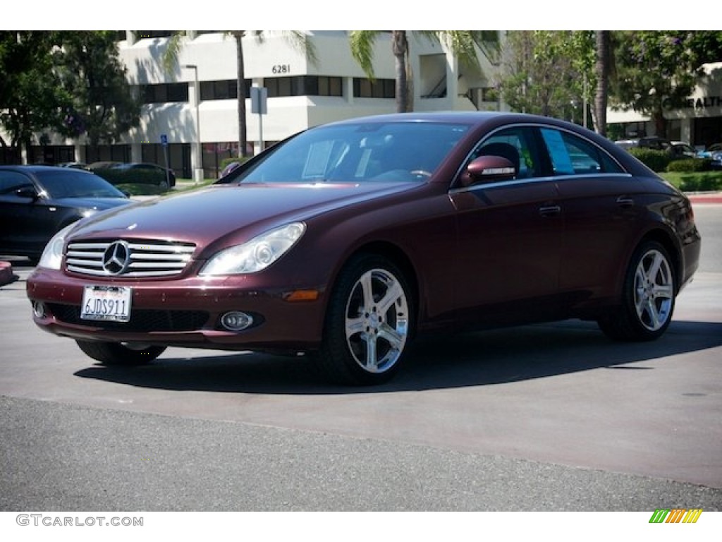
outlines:
[[[48,165],[0,165],[0,254],[40,258],[66,225],[126,205],[126,194],[94,173]]]

